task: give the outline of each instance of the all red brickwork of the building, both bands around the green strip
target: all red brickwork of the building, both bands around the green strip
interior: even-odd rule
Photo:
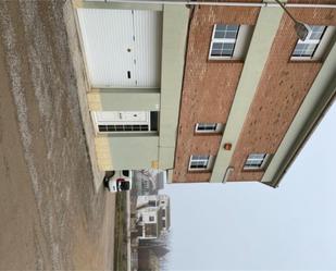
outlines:
[[[254,1],[260,2],[260,1]],[[300,2],[291,0],[288,2]],[[307,3],[335,3],[308,0]],[[191,155],[216,156],[222,135],[196,135],[198,122],[226,123],[244,62],[209,61],[214,24],[256,25],[259,8],[197,7],[190,21],[182,106],[175,152],[174,183],[208,182],[211,172],[188,171]],[[290,9],[311,25],[336,25],[333,9]],[[290,61],[297,42],[293,22],[284,14],[231,165],[228,181],[260,181],[263,171],[242,171],[249,153],[275,153],[323,61]],[[226,169],[223,169],[223,172]]]

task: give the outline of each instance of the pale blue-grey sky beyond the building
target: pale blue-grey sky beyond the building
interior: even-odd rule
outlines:
[[[336,104],[274,189],[169,184],[169,270],[336,270]]]

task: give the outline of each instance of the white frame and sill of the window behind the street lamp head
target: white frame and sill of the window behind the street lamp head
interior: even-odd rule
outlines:
[[[295,48],[297,47],[298,44],[311,44],[311,45],[316,45],[316,48],[313,52],[312,56],[293,56],[293,53],[295,52],[295,48],[291,52],[291,56],[290,56],[290,60],[293,61],[315,61],[315,60],[320,60],[323,58],[323,54],[325,53],[327,47],[328,47],[328,44],[331,41],[331,39],[333,38],[334,34],[335,34],[335,29],[336,27],[335,26],[326,26],[326,25],[321,25],[321,26],[324,26],[326,27],[324,29],[324,33],[323,35],[321,36],[320,39],[311,39],[311,35],[313,34],[313,32],[309,32],[307,38],[304,41],[298,39]],[[309,27],[309,26],[308,26]]]

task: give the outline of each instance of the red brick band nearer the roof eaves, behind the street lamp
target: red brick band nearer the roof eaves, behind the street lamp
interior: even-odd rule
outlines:
[[[335,1],[307,2],[336,3]],[[290,9],[290,12],[307,24],[336,25],[336,10]],[[235,171],[228,181],[262,178],[264,173],[262,171],[242,171],[246,158],[251,152],[276,152],[322,66],[319,62],[290,62],[289,58],[296,42],[293,22],[285,14],[231,161]]]

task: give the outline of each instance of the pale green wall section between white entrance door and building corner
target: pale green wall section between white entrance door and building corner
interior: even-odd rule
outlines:
[[[152,168],[158,161],[159,136],[109,136],[114,170]]]

